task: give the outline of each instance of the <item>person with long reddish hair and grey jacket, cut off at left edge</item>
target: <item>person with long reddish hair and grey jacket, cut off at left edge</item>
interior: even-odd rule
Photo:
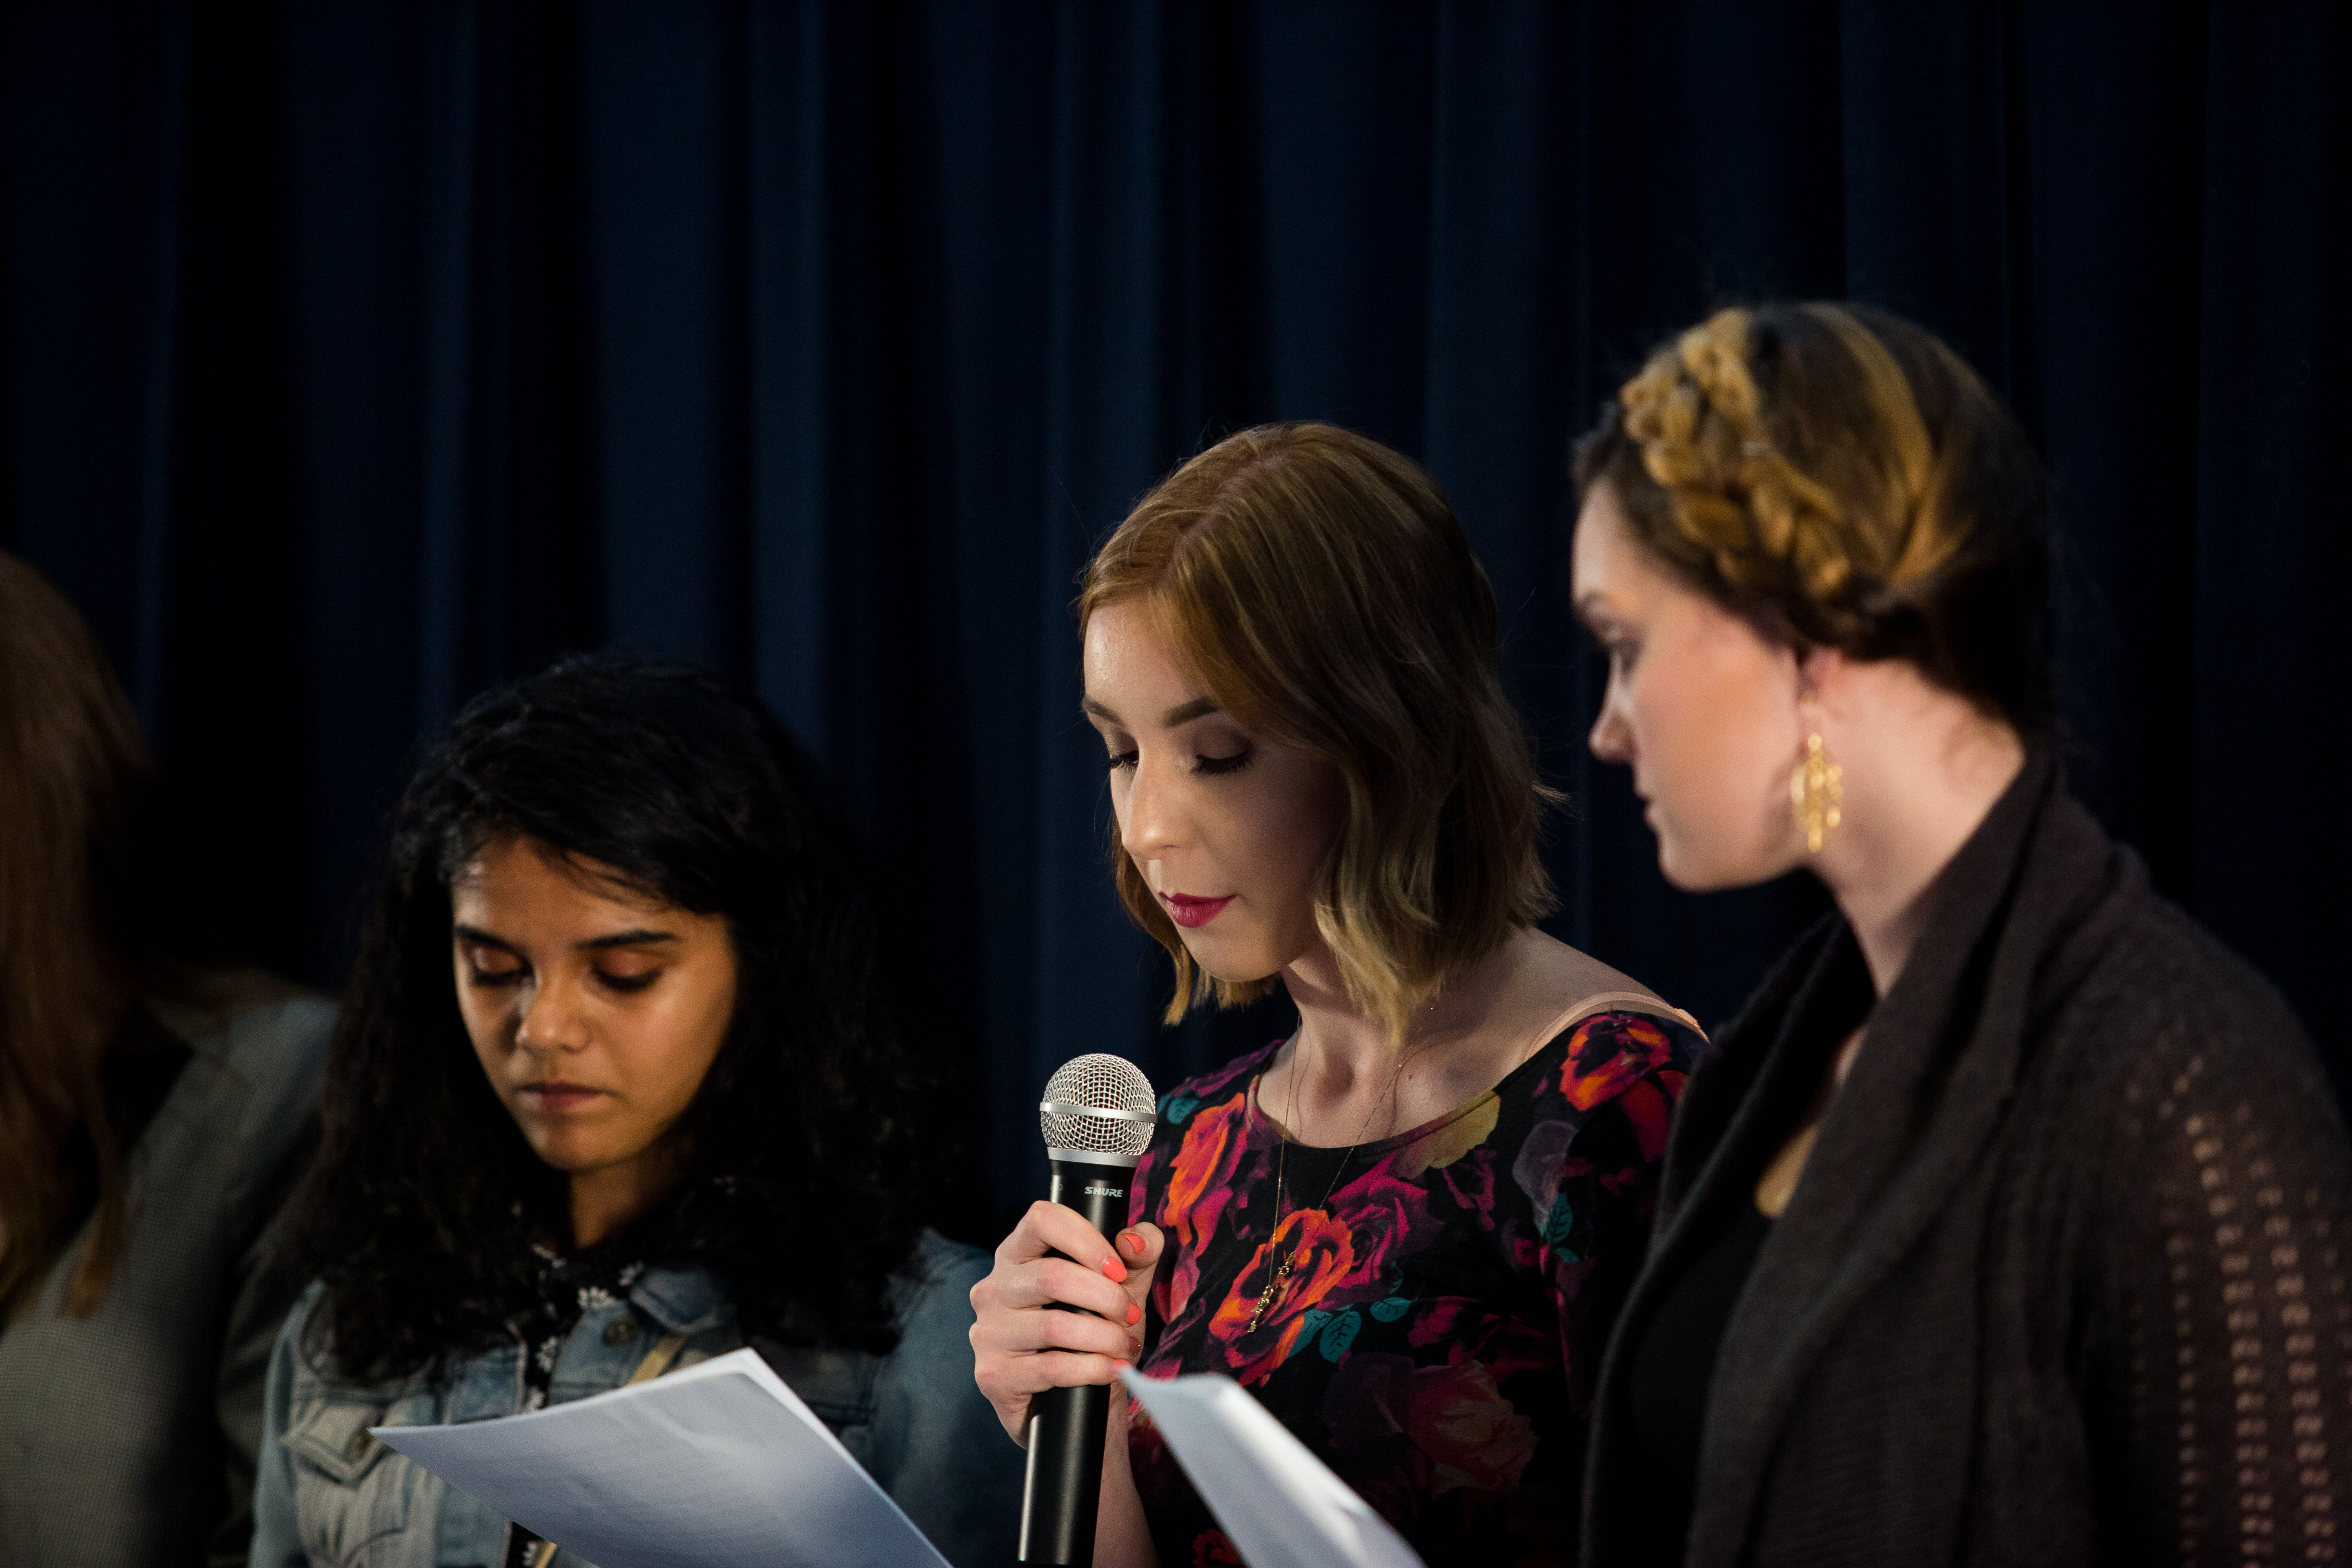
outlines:
[[[235,961],[198,837],[89,625],[0,552],[0,1563],[252,1540],[334,1004]]]

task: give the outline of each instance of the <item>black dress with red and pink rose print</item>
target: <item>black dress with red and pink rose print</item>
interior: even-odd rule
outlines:
[[[1256,1100],[1277,1048],[1160,1100],[1131,1211],[1169,1248],[1141,1371],[1235,1378],[1432,1568],[1571,1561],[1602,1349],[1703,1037],[1592,1013],[1435,1121],[1291,1145],[1279,1229],[1282,1128]],[[1141,1410],[1129,1458],[1162,1568],[1240,1561]]]

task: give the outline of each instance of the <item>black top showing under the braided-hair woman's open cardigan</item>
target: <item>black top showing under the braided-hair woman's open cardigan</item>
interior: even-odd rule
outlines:
[[[1632,1434],[1642,1443],[1644,1465],[1663,1483],[1661,1500],[1682,1516],[1677,1535],[1689,1528],[1691,1495],[1698,1490],[1698,1443],[1708,1425],[1715,1354],[1766,1237],[1771,1220],[1755,1204],[1731,1206],[1717,1222],[1715,1239],[1668,1286],[1632,1352]]]

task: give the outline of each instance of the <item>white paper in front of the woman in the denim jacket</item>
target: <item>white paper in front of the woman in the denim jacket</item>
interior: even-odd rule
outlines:
[[[948,1568],[753,1349],[529,1415],[372,1432],[597,1568]]]

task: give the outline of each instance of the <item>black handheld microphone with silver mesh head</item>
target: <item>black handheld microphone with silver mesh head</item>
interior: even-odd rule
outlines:
[[[1115,1234],[1127,1225],[1129,1173],[1143,1159],[1155,1121],[1152,1081],[1134,1063],[1103,1053],[1063,1063],[1037,1103],[1044,1157],[1054,1161],[1047,1201],[1075,1208],[1105,1237]],[[1108,1425],[1110,1389],[1098,1382],[1047,1389],[1030,1401],[1018,1561],[1091,1568]]]

